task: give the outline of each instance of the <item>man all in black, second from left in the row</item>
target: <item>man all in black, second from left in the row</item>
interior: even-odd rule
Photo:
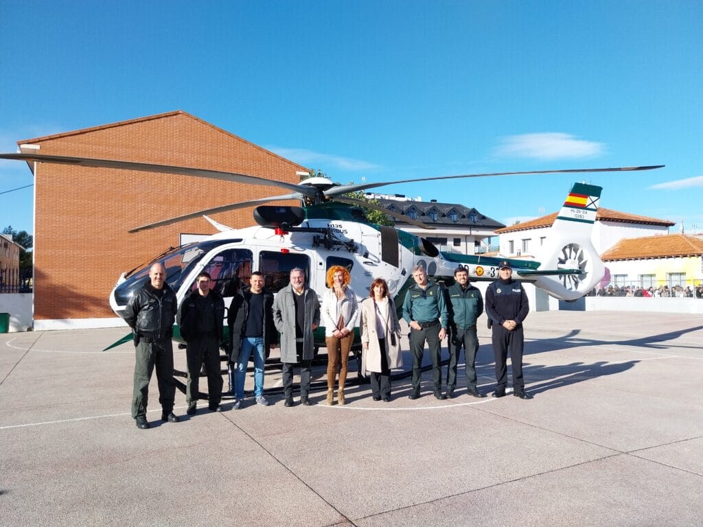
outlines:
[[[181,308],[181,335],[186,339],[186,360],[188,363],[188,381],[186,384],[186,403],[188,415],[194,415],[198,409],[198,392],[200,389],[200,365],[205,362],[207,372],[207,406],[213,412],[221,412],[222,374],[219,345],[222,341],[224,323],[224,299],[214,290],[210,290],[212,278],[203,271],[196,278],[198,289],[183,302]]]

